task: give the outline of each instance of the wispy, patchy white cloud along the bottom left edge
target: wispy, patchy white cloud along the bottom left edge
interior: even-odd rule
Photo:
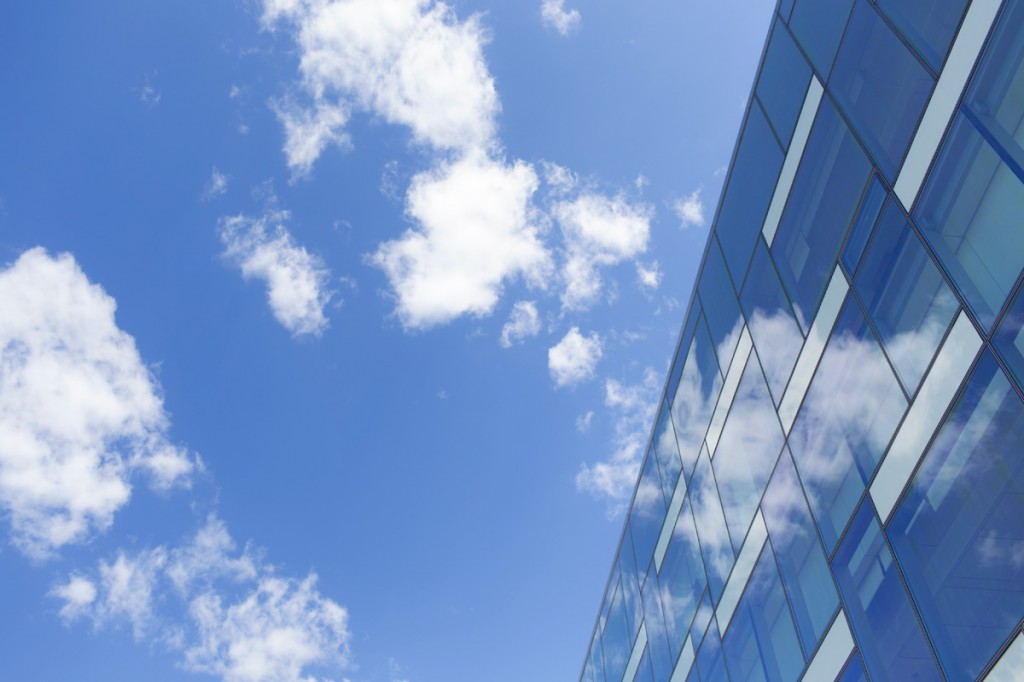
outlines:
[[[54,586],[66,623],[128,627],[225,682],[314,682],[349,662],[348,613],[316,576],[278,576],[215,516],[180,547],[118,553]],[[155,606],[161,604],[162,608]]]

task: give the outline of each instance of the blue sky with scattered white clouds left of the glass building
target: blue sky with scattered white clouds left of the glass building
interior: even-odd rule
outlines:
[[[0,9],[0,678],[574,679],[771,9]]]

